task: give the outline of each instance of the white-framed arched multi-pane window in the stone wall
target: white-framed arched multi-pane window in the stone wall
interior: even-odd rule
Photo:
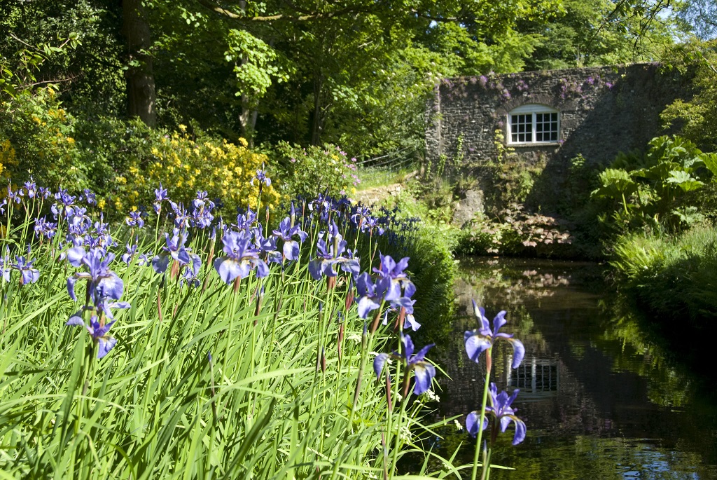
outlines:
[[[546,105],[528,103],[508,113],[508,143],[558,143],[560,112]]]

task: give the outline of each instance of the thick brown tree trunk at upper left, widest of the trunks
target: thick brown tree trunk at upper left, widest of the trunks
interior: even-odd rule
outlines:
[[[139,117],[148,126],[157,123],[156,92],[152,57],[148,54],[151,47],[149,24],[142,8],[141,0],[122,1],[122,31],[127,39],[129,69],[127,78],[127,113],[130,117]]]

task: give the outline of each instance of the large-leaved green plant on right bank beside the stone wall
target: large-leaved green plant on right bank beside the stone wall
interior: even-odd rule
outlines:
[[[691,220],[687,214],[695,202],[693,192],[712,181],[716,167],[715,154],[703,153],[684,138],[652,138],[645,154],[619,154],[599,174],[601,186],[592,197],[607,203],[617,228],[663,225],[678,230]]]

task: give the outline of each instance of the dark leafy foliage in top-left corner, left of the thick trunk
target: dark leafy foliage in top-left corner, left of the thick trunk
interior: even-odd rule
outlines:
[[[58,85],[68,112],[117,115],[126,100],[121,11],[110,0],[2,2],[0,57],[17,71],[23,50],[42,55],[33,83]]]

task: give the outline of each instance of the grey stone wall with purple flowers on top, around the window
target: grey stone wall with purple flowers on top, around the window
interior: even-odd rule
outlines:
[[[475,177],[482,189],[489,188],[481,172],[498,159],[496,131],[507,136],[508,112],[526,103],[548,105],[560,112],[560,141],[511,145],[509,158],[511,168],[539,166],[540,188],[526,204],[551,212],[569,182],[571,159],[581,154],[588,166],[597,166],[619,151],[644,149],[650,138],[665,133],[659,114],[684,90],[678,75],[661,72],[657,64],[445,79],[427,108],[427,159],[432,165],[449,159],[446,174]],[[460,166],[451,167],[450,159],[460,153]]]

